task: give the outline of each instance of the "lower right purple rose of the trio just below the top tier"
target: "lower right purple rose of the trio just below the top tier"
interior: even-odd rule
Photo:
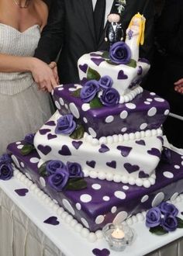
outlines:
[[[119,92],[115,88],[105,89],[100,97],[100,101],[105,106],[116,106],[119,103]]]

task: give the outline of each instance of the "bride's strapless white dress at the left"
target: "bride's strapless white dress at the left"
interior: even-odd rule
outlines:
[[[0,53],[33,56],[40,26],[24,32],[0,23]],[[0,72],[0,155],[10,142],[35,133],[51,116],[50,94],[38,90],[29,72]]]

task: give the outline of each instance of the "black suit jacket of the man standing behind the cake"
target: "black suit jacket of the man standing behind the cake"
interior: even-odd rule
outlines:
[[[116,12],[115,3],[114,1],[111,12]],[[124,32],[130,19],[137,12],[147,19],[145,44],[140,50],[141,57],[150,58],[153,42],[153,5],[153,0],[126,0],[126,8],[122,15]],[[78,58],[91,51],[109,49],[109,43],[105,42],[104,34],[105,32],[97,44],[91,0],[54,0],[35,57],[50,63],[55,60],[61,49],[57,61],[60,82],[78,82]]]

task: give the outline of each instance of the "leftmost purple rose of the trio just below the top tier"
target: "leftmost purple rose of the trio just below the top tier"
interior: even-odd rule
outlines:
[[[81,88],[80,96],[83,102],[91,102],[99,91],[99,84],[96,80],[89,80]]]

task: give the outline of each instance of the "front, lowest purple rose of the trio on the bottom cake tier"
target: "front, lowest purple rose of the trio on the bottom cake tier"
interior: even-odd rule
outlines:
[[[64,189],[69,178],[69,173],[66,169],[57,169],[53,175],[48,177],[48,184],[50,187],[60,192]]]

